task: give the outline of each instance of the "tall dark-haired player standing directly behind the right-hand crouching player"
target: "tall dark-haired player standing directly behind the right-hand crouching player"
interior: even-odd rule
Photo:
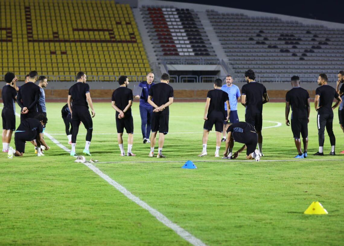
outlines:
[[[246,107],[245,121],[255,127],[258,133],[258,150],[259,155],[264,156],[262,152],[263,136],[262,129],[262,112],[263,104],[269,101],[268,93],[264,85],[255,81],[255,73],[249,69],[245,72],[246,85],[241,88],[241,104]]]

